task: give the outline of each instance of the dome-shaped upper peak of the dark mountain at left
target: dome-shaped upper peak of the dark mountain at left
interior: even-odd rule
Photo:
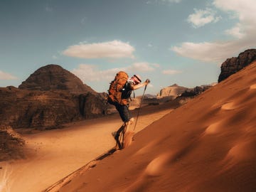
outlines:
[[[84,85],[73,73],[63,69],[60,65],[46,65],[36,70],[18,86],[22,90],[68,90],[70,92],[95,92]]]

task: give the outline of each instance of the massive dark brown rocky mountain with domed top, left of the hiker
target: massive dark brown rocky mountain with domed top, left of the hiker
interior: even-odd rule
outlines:
[[[0,125],[51,129],[107,112],[102,94],[59,65],[36,70],[16,87],[0,88]]]

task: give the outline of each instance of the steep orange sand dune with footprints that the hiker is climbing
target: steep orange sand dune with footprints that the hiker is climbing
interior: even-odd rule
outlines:
[[[59,191],[256,191],[256,62]]]

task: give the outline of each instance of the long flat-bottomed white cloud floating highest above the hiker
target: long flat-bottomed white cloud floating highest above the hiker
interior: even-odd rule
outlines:
[[[75,58],[134,58],[134,48],[122,41],[104,43],[80,43],[63,51],[64,55]]]

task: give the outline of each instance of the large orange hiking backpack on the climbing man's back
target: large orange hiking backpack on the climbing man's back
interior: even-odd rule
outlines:
[[[110,88],[107,90],[107,102],[112,105],[127,105],[127,100],[122,99],[122,90],[127,83],[128,75],[124,71],[119,71],[114,80],[110,82]]]

